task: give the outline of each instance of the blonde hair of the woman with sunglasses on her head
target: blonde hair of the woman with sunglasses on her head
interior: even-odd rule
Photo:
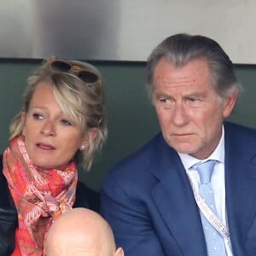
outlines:
[[[77,67],[78,69],[73,70],[71,68],[68,71],[61,71],[61,69],[51,65],[54,61],[63,61],[70,67]],[[77,70],[92,73],[96,81],[93,83],[84,82],[83,78],[79,79]],[[24,94],[23,108],[10,125],[10,140],[22,133],[21,113],[28,112],[33,93],[38,84],[47,82],[53,88],[56,102],[58,102],[61,111],[73,121],[73,124],[79,128],[83,136],[88,129],[96,130],[96,137],[94,139],[90,137],[89,146],[84,150],[78,150],[74,155],[75,162],[89,170],[96,151],[102,148],[108,134],[102,76],[99,71],[86,62],[49,58],[44,61],[41,67],[35,70],[27,81],[28,86]]]

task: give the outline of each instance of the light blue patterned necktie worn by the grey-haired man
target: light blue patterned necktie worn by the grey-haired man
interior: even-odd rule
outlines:
[[[218,216],[214,195],[212,191],[211,177],[216,160],[207,160],[204,163],[193,166],[200,176],[199,194],[201,198],[207,203],[212,212]],[[226,251],[224,247],[224,238],[218,233],[207,218],[201,213],[201,223],[205,233],[207,242],[207,255],[208,256],[225,256]]]

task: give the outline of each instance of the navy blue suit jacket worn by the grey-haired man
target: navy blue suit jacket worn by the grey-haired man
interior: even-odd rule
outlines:
[[[234,256],[256,255],[256,131],[225,129],[225,189]],[[102,185],[102,215],[125,256],[205,256],[207,247],[183,164],[161,134],[121,161]]]

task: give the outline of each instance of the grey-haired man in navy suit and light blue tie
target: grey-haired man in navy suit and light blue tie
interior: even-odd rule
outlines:
[[[153,50],[147,72],[161,132],[102,185],[117,245],[128,256],[255,256],[256,131],[224,122],[241,90],[229,56],[211,38],[176,34]],[[195,168],[209,161],[214,206]]]

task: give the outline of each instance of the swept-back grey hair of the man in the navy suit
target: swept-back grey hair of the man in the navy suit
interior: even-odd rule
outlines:
[[[212,86],[221,98],[242,89],[230,57],[216,41],[201,35],[180,33],[163,40],[148,56],[147,86],[151,98],[154,94],[154,69],[162,58],[176,67],[183,67],[195,59],[205,59],[212,73]]]

